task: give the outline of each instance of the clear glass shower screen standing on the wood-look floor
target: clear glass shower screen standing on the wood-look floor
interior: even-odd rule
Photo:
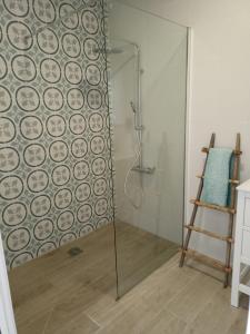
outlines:
[[[120,297],[182,243],[188,30],[124,1],[108,24]]]

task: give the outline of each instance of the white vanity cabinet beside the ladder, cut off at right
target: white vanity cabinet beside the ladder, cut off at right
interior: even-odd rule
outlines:
[[[234,255],[232,266],[231,305],[239,306],[239,295],[250,296],[250,281],[246,274],[250,269],[250,180],[238,188]]]

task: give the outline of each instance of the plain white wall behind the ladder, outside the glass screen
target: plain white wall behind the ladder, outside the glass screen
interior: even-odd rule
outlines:
[[[217,132],[217,144],[233,146],[242,136],[241,179],[250,177],[250,1],[249,0],[128,0],[192,28],[191,101],[189,115],[188,191],[194,197],[202,167],[200,147]],[[188,217],[191,206],[188,204]],[[203,212],[199,222],[224,234],[227,219]],[[223,259],[221,243],[196,237],[194,247]]]

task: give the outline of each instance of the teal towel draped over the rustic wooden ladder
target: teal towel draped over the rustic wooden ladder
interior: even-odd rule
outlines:
[[[229,148],[210,148],[204,170],[201,200],[227,206],[232,150]]]

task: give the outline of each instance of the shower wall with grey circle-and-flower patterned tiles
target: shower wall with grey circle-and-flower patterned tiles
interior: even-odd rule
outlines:
[[[101,0],[0,12],[0,230],[14,267],[112,219],[104,24]]]

